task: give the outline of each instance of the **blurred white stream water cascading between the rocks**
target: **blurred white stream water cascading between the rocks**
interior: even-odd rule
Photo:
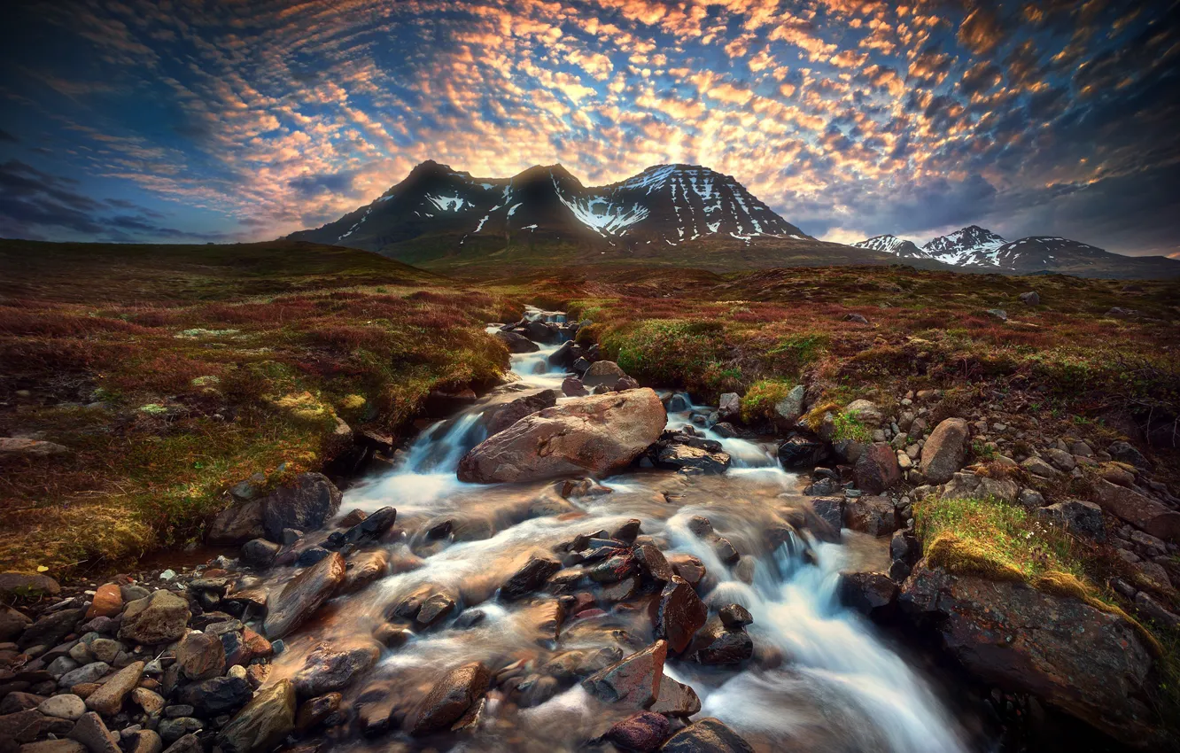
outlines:
[[[666,552],[699,557],[709,576],[702,597],[710,608],[745,605],[754,616],[748,631],[755,654],[743,668],[703,667],[669,659],[666,674],[690,685],[702,700],[699,716],[716,716],[739,731],[759,751],[889,751],[953,753],[969,744],[927,682],[883,640],[866,620],[835,597],[844,568],[885,569],[884,539],[845,531],[841,544],[791,538],[774,545],[766,532],[784,511],[798,506],[799,479],[774,459],[773,445],[722,439],[733,467],[722,476],[683,476],[655,469],[605,479],[612,493],[563,499],[553,483],[464,484],[455,479],[463,454],[484,439],[480,415],[489,405],[524,391],[559,388],[564,373],[548,364],[553,347],[512,356],[519,377],[465,413],[441,421],[404,453],[399,470],[349,490],[342,512],[360,508],[398,509],[405,537],[389,545],[393,571],[353,596],[337,598],[316,621],[289,639],[277,662],[295,672],[310,648],[366,641],[386,621],[389,609],[428,587],[451,595],[458,623],[472,609],[483,614],[472,627],[446,624],[415,635],[398,649],[382,649],[378,666],[346,692],[353,702],[374,687],[406,699],[420,699],[446,670],[484,661],[493,676],[524,675],[510,695],[489,693],[474,731],[412,741],[394,731],[384,736],[353,736],[337,747],[388,749],[573,751],[625,716],[589,696],[577,683],[555,687],[539,668],[562,651],[615,649],[629,654],[654,640],[643,604],[621,603],[566,618],[553,630],[553,603],[497,600],[497,588],[533,554],[599,529],[612,530],[629,518],[642,520],[643,533]],[[701,406],[669,415],[669,427],[691,421]],[[712,546],[688,528],[694,515],[707,516],[716,531],[754,558],[753,577],[743,582],[717,559]],[[446,538],[426,531],[450,520]],[[781,539],[779,539],[781,541]],[[805,556],[804,552],[807,552]],[[407,564],[412,563],[412,564]],[[417,569],[408,567],[418,565]],[[402,571],[405,570],[405,571]],[[507,669],[505,669],[507,668]],[[499,675],[496,673],[499,672]],[[496,682],[493,682],[496,685]],[[362,701],[363,702],[363,699]],[[407,701],[409,702],[409,701]]]

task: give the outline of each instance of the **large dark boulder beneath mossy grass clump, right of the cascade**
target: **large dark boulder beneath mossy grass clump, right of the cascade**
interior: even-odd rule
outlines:
[[[984,682],[1036,695],[1128,745],[1156,739],[1153,713],[1139,700],[1152,657],[1123,617],[1074,596],[952,575],[925,562],[898,601],[930,618],[946,649]]]

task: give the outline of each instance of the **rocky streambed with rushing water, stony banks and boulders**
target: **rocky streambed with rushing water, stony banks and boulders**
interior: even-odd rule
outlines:
[[[0,576],[21,607],[0,613],[2,753],[1017,749],[1030,708],[1168,744],[1129,618],[931,564],[914,530],[926,496],[1001,498],[1171,589],[1180,512],[1134,447],[1045,446],[936,392],[805,426],[800,386],[778,428],[743,426],[738,395],[641,387],[577,328],[492,328],[516,379],[438,395],[453,414],[343,492],[243,482],[206,564]],[[981,438],[1020,472],[964,467]],[[1080,467],[1097,502],[1024,483]],[[1176,621],[1135,583],[1114,588]],[[927,672],[927,641],[953,672]]]

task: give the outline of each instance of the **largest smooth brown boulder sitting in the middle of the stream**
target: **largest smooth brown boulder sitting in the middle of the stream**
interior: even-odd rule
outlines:
[[[604,476],[630,465],[667,421],[663,404],[648,388],[576,398],[480,443],[459,461],[459,480]]]

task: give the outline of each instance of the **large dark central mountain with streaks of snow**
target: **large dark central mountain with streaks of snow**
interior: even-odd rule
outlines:
[[[732,176],[700,165],[655,165],[586,188],[562,165],[477,178],[424,162],[367,207],[290,237],[380,250],[420,236],[519,234],[678,245],[707,236],[812,240]]]

